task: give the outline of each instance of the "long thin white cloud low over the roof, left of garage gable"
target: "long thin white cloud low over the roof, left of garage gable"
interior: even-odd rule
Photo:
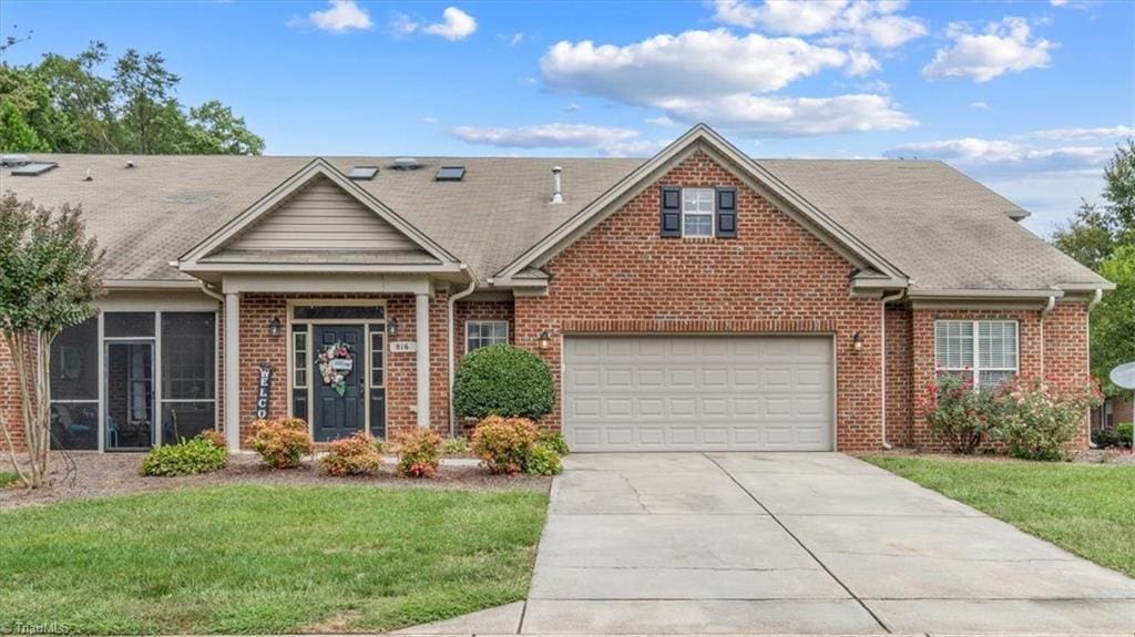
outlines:
[[[505,148],[590,148],[606,155],[654,153],[663,142],[642,139],[633,128],[587,124],[543,124],[502,128],[459,126],[453,135],[470,144]]]

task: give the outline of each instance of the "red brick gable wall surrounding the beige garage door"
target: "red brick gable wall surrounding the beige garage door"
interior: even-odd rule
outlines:
[[[738,238],[661,238],[663,185],[738,187]],[[838,445],[878,448],[880,301],[851,298],[852,267],[843,257],[700,151],[546,270],[552,277],[548,295],[515,301],[515,342],[545,358],[557,387],[564,333],[835,333]],[[545,329],[555,338],[540,350],[536,339]],[[850,347],[855,332],[866,341],[860,351]],[[560,425],[558,396],[546,422]]]

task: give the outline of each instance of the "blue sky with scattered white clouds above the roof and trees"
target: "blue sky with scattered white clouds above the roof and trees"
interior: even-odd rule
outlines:
[[[160,51],[268,154],[939,159],[1049,235],[1135,135],[1135,2],[26,2],[8,63]],[[109,74],[109,69],[106,69]],[[917,205],[917,202],[911,202]]]

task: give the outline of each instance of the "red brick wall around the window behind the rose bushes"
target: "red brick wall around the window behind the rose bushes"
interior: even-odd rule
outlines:
[[[1039,309],[914,309],[911,347],[914,393],[920,393],[934,380],[934,322],[938,320],[1015,320],[1018,333],[1018,370],[1022,377],[1043,375],[1060,384],[1078,383],[1087,375],[1087,304],[1057,303],[1044,321],[1044,355],[1041,347]],[[911,409],[914,397],[911,397]],[[1085,430],[1075,444],[1087,444]],[[924,419],[913,418],[908,444],[938,449]]]

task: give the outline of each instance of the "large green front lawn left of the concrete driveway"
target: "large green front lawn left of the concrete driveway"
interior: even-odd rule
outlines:
[[[0,632],[385,631],[524,598],[547,496],[233,485],[0,511]]]

